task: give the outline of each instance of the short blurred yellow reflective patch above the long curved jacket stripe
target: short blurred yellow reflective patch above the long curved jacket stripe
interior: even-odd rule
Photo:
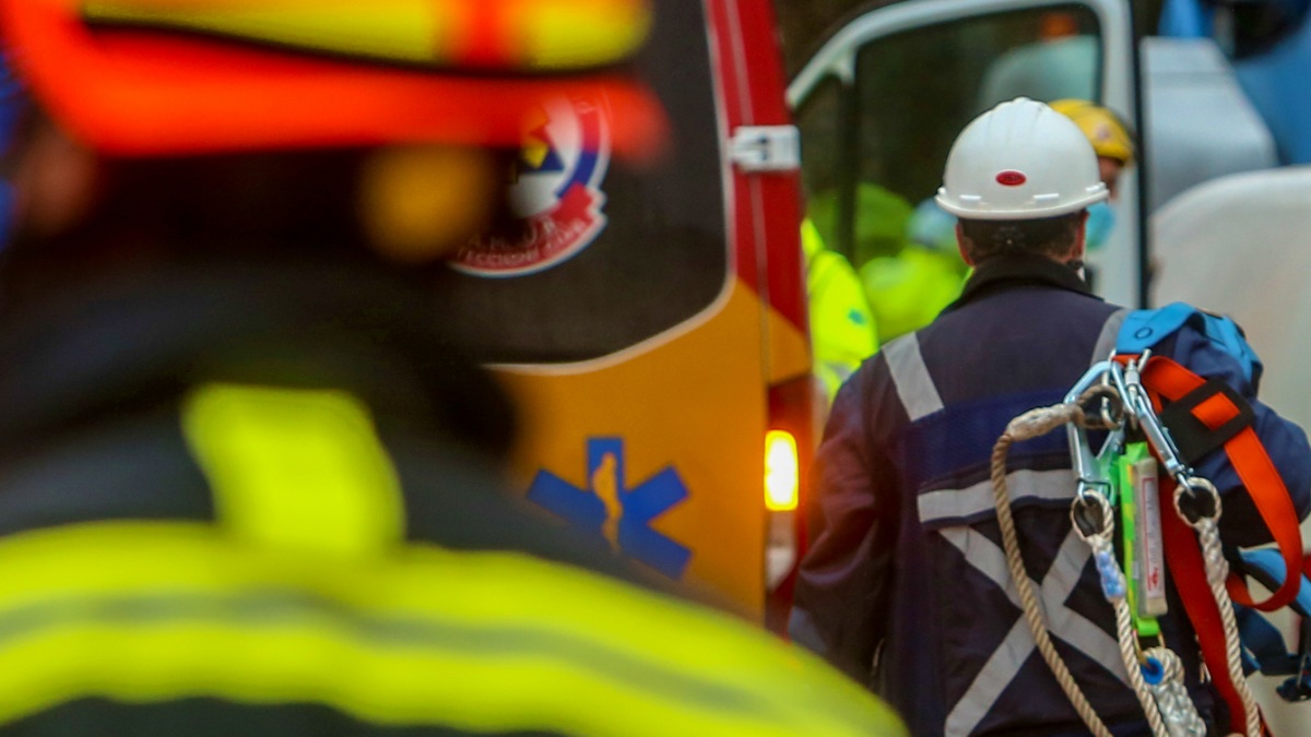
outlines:
[[[347,393],[207,384],[184,404],[182,431],[240,539],[347,556],[404,539],[396,469]]]

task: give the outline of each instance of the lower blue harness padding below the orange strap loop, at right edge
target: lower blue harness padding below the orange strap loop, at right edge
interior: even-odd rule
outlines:
[[[1270,548],[1242,551],[1244,573],[1270,590],[1283,584],[1283,557]],[[1289,652],[1283,635],[1257,611],[1234,605],[1239,639],[1243,643],[1243,670],[1260,670],[1265,675],[1291,675],[1278,688],[1286,702],[1311,699],[1311,582],[1302,576],[1302,586],[1289,608],[1302,616],[1298,627],[1298,652]]]

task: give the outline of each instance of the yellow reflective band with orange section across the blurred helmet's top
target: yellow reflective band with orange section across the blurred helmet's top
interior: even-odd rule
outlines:
[[[493,8],[469,13],[471,3]],[[83,17],[438,67],[458,66],[490,30],[510,71],[612,64],[650,30],[644,0],[84,0]]]

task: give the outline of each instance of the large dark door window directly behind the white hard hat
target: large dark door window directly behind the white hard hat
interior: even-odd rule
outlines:
[[[983,110],[1019,96],[1097,101],[1097,33],[1089,8],[1046,7],[944,22],[861,47],[853,264],[897,256],[909,233],[953,248],[953,222],[937,218],[926,201],[941,184],[956,135]]]

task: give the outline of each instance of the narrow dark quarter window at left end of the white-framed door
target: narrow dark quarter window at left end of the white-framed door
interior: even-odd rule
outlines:
[[[819,228],[819,235],[831,248],[838,248],[835,215],[838,191],[843,181],[843,87],[836,77],[825,77],[797,109],[796,122],[801,130],[802,181],[806,212]]]

